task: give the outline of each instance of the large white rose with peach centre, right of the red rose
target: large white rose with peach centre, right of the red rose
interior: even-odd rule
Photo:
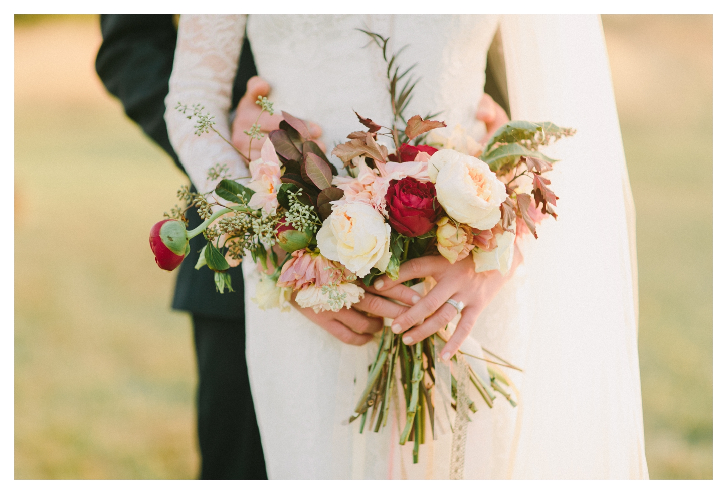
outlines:
[[[485,162],[442,149],[433,154],[427,171],[435,183],[437,200],[451,218],[480,230],[497,225],[499,205],[507,199],[507,192]]]

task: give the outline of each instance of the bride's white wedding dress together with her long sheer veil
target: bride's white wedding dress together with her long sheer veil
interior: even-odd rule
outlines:
[[[198,137],[174,106],[201,103],[229,135],[230,92],[244,34],[277,111],[314,121],[331,150],[361,124],[389,124],[385,62],[356,28],[390,36],[422,79],[407,114],[443,111],[483,135],[475,110],[497,28],[513,119],[576,127],[547,150],[558,221],[523,244],[525,263],[483,312],[475,340],[525,369],[520,394],[479,403],[465,478],[648,478],[637,353],[633,205],[600,20],[595,16],[182,15],[166,99],[172,144],[198,190],[206,170],[244,164],[214,134]],[[245,265],[246,298],[257,274]],[[448,478],[447,437],[399,447],[396,421],[358,434],[356,389],[375,351],[341,343],[296,311],[246,303],[247,362],[272,479]],[[365,378],[364,378],[365,379]],[[401,412],[401,410],[400,410]],[[368,424],[367,424],[368,425]]]

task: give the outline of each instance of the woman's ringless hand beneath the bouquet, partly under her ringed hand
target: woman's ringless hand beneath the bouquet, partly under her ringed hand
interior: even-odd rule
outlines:
[[[306,319],[318,324],[343,343],[349,343],[350,345],[363,345],[371,340],[372,333],[377,332],[382,327],[381,319],[366,316],[361,312],[394,319],[406,311],[406,307],[398,306],[371,293],[366,293],[361,302],[353,305],[358,310],[343,308],[338,312],[321,311],[318,314],[312,308],[301,308],[293,299],[294,297],[291,298],[291,305]]]

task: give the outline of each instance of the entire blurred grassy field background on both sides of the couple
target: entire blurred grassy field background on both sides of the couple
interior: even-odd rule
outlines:
[[[649,471],[712,478],[712,17],[603,27],[637,208]],[[190,322],[147,244],[184,178],[105,93],[100,41],[97,16],[15,18],[15,477],[193,478]]]

